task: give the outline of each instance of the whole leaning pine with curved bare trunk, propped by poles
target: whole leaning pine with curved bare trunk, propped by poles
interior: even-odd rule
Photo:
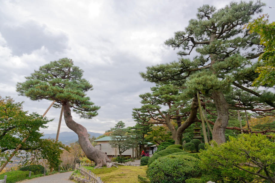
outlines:
[[[79,139],[79,144],[88,159],[97,163],[95,168],[106,165],[111,167],[111,160],[107,155],[94,148],[89,141],[87,129],[75,122],[71,115],[71,108],[80,117],[91,119],[96,116],[99,106],[95,106],[85,92],[92,90],[92,85],[82,78],[83,70],[74,66],[68,58],[59,59],[41,66],[26,77],[23,83],[17,83],[19,95],[31,100],[47,99],[56,101],[56,108],[63,106],[66,125],[73,130]]]

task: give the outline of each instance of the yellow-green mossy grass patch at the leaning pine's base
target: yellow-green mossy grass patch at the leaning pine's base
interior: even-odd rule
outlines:
[[[147,166],[123,166],[119,165],[118,168],[100,168],[94,169],[93,167],[85,167],[91,170],[94,174],[101,177],[103,182],[113,183],[138,183],[137,176],[146,176]]]

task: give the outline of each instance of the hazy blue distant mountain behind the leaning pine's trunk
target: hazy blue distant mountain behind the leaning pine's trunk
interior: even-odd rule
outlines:
[[[88,134],[90,134],[91,136],[94,135],[94,137],[98,137],[100,135],[103,135],[103,134],[100,134],[100,133],[94,133],[94,132],[91,132],[91,131],[88,131]],[[44,134],[44,137],[41,137],[42,139],[47,139],[47,138],[56,138],[56,134]],[[65,145],[68,145],[70,143],[73,143],[73,142],[76,142],[78,140],[78,137],[77,137],[77,134],[70,131],[65,131],[65,132],[61,132],[59,133],[59,136],[58,136],[58,140],[61,141],[63,144]]]

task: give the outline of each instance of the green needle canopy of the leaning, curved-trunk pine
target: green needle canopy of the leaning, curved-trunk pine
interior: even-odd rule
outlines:
[[[61,106],[62,101],[68,101],[80,117],[91,118],[98,114],[100,107],[95,106],[85,94],[93,86],[82,76],[82,69],[74,66],[68,58],[62,58],[39,67],[38,71],[25,77],[25,82],[17,83],[16,91],[31,100],[55,100],[55,107]]]

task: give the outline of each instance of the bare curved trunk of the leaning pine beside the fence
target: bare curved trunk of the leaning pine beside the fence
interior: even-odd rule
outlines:
[[[71,105],[66,102],[62,103],[62,105],[64,107],[63,114],[66,125],[68,126],[68,128],[70,128],[78,135],[80,147],[82,148],[87,158],[96,162],[97,165],[94,168],[99,168],[103,165],[106,165],[108,168],[110,168],[112,166],[111,160],[107,157],[107,155],[104,152],[94,148],[91,145],[87,129],[73,120],[70,109]]]

